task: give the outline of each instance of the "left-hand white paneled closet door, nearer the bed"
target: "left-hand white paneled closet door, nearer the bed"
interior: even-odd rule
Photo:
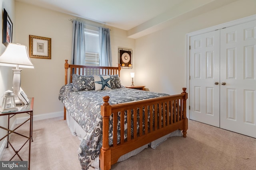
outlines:
[[[190,119],[216,127],[220,127],[219,49],[219,30],[190,38]]]

